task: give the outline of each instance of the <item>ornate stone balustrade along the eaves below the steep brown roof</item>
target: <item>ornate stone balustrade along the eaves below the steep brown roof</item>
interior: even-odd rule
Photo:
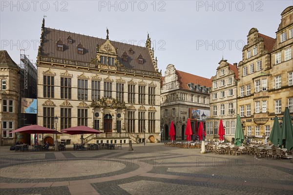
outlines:
[[[59,64],[68,64],[72,66],[82,66],[87,68],[97,68],[101,70],[111,70],[111,71],[118,71],[123,73],[132,73],[137,75],[146,75],[151,77],[161,77],[161,73],[159,72],[150,72],[144,70],[135,70],[135,69],[128,69],[125,67],[117,67],[117,66],[109,66],[104,64],[92,63],[92,62],[83,62],[83,61],[75,61],[70,59],[56,59],[51,57],[40,57],[40,61],[50,62],[50,63],[59,63]]]

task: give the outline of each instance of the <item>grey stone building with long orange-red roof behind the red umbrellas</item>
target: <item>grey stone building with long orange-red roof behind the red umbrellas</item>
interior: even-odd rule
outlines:
[[[209,117],[209,92],[211,79],[176,70],[173,64],[166,68],[161,89],[161,131],[169,139],[171,120],[174,122],[175,139],[185,139],[187,119],[197,135],[202,115]]]

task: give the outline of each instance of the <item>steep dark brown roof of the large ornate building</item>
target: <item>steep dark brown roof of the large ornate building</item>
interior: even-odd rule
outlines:
[[[73,44],[67,43],[68,34],[72,38]],[[57,51],[56,42],[59,38],[63,41],[63,51]],[[43,34],[43,44],[41,48],[41,56],[60,58],[60,59],[71,59],[83,62],[90,62],[92,59],[96,59],[97,55],[97,44],[102,45],[106,39],[99,39],[95,37],[89,37],[85,35],[80,35],[76,33],[70,33],[66,31],[51,29],[44,27]],[[77,43],[83,43],[84,54],[77,55],[76,45]],[[152,58],[149,54],[148,48],[140,47],[136,45],[130,45],[126,43],[111,41],[111,44],[117,48],[118,47],[118,60],[124,67],[129,69],[138,69],[144,71],[156,72],[155,67],[152,62]],[[135,54],[141,54],[144,57],[144,63],[140,64],[137,60],[137,55],[128,56],[128,60],[124,61],[122,59],[122,54],[125,51],[128,51],[130,48],[134,51]]]

